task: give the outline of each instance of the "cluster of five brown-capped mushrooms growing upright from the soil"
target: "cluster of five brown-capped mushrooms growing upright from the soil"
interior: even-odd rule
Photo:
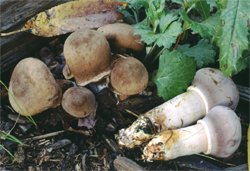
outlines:
[[[118,34],[120,29],[123,34]],[[109,77],[107,81],[111,80],[111,84],[107,85],[114,93],[135,95],[142,92],[148,84],[146,68],[134,57],[113,59],[111,39],[117,48],[140,51],[144,47],[128,24],[116,23],[98,30],[73,32],[63,46],[65,65],[62,74],[76,84],[63,92],[43,63],[44,59],[21,60],[12,73],[9,87],[9,100],[14,110],[21,115],[33,116],[61,104],[74,118],[94,118],[97,110],[95,95],[84,86]]]

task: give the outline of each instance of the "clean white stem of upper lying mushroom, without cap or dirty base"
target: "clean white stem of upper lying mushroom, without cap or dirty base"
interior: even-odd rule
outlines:
[[[208,112],[206,99],[199,89],[191,86],[182,93],[160,106],[146,112],[152,123],[160,129],[180,128],[197,121]]]

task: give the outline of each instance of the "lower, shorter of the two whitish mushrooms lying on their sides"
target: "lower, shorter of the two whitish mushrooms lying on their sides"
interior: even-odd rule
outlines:
[[[143,157],[148,161],[170,160],[203,152],[225,158],[240,142],[240,119],[230,108],[216,106],[196,125],[160,132],[146,145]]]

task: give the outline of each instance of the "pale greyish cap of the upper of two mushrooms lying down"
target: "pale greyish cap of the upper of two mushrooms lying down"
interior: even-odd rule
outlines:
[[[208,109],[214,106],[228,106],[235,109],[239,102],[239,91],[230,77],[220,70],[202,68],[196,72],[193,87],[197,87],[204,95]]]

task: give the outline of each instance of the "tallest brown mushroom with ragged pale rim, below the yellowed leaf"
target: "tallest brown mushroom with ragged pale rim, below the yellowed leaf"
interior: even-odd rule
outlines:
[[[103,34],[94,30],[79,30],[65,41],[65,78],[74,77],[80,86],[96,82],[110,74],[111,53]]]

